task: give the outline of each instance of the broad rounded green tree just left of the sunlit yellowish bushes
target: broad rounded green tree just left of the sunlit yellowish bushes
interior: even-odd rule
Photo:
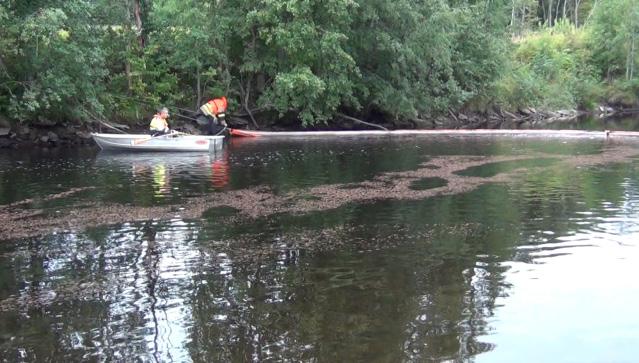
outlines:
[[[500,72],[503,34],[486,3],[450,7],[443,1],[366,1],[350,47],[363,78],[361,102],[394,118],[458,108],[481,94]],[[375,54],[374,57],[371,53]]]

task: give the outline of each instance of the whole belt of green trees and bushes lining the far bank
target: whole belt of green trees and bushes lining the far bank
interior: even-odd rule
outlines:
[[[246,120],[305,126],[633,106],[635,1],[8,0],[0,115],[128,122],[221,94]]]

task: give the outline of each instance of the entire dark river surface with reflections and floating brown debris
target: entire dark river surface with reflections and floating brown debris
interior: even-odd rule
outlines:
[[[0,154],[0,361],[633,362],[639,141]]]

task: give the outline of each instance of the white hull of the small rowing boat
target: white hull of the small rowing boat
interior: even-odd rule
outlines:
[[[212,152],[222,148],[224,136],[144,134],[91,134],[102,150],[114,151],[170,151]]]

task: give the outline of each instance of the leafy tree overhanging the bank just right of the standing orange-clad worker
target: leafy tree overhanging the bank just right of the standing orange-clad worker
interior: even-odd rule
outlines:
[[[258,1],[248,11],[247,41],[263,67],[248,72],[270,85],[258,99],[283,116],[296,113],[302,124],[326,121],[345,103],[354,103],[358,71],[345,50],[351,0]],[[247,87],[248,88],[248,87]]]

